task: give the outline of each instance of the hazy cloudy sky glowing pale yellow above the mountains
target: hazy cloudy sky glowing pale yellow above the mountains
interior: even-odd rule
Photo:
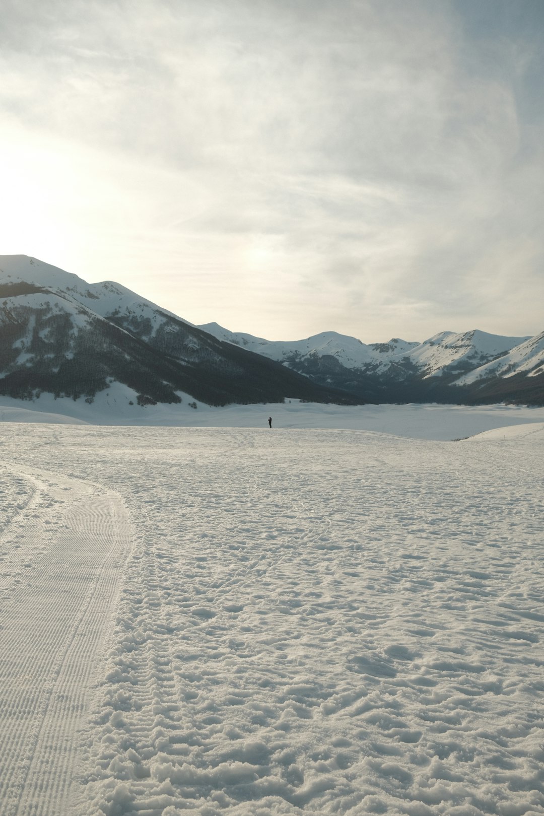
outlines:
[[[190,322],[544,329],[542,0],[2,0],[0,254]]]

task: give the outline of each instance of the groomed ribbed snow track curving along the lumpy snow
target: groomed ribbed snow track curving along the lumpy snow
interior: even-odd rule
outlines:
[[[20,475],[20,472],[19,472]],[[0,607],[0,816],[66,816],[79,734],[131,544],[120,497],[84,481],[24,473],[33,498]]]

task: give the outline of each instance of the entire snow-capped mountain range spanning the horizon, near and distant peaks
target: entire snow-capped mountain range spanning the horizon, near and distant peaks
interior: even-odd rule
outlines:
[[[115,282],[88,284],[27,255],[0,256],[0,393],[92,402],[114,382],[135,405],[497,401],[544,404],[544,332],[443,331],[364,344],[323,332],[270,341],[194,326]]]

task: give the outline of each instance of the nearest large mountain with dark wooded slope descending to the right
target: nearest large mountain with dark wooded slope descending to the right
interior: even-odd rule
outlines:
[[[215,405],[357,401],[223,343],[117,283],[88,284],[26,255],[0,256],[0,392],[92,401],[116,382],[139,405],[179,402],[180,392]]]

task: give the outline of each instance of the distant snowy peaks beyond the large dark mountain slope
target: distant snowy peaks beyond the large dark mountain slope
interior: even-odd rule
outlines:
[[[543,335],[506,337],[474,329],[462,333],[442,331],[422,343],[394,338],[388,343],[364,344],[335,331],[302,340],[272,341],[232,332],[217,323],[200,328],[218,339],[280,361],[316,382],[364,392],[375,401],[484,399],[489,379],[493,379],[496,393],[497,377],[543,373]],[[453,390],[452,385],[456,387]],[[513,392],[517,385],[517,380],[508,384],[505,393]],[[538,397],[542,386],[535,384],[535,388]],[[527,388],[522,390],[530,399]]]

